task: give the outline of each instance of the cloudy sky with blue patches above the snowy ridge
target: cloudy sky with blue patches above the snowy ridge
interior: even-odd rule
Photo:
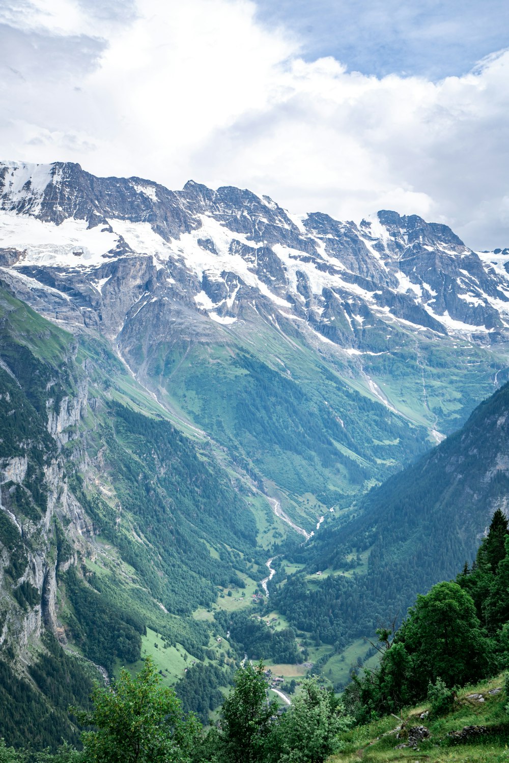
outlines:
[[[507,0],[0,0],[2,159],[509,246]]]

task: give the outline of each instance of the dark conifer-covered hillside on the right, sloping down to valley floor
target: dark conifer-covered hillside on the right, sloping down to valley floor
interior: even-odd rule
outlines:
[[[272,606],[337,650],[401,620],[415,594],[472,562],[491,513],[506,509],[508,427],[505,385],[459,432],[372,489],[350,522],[298,549],[292,559],[304,568],[275,588]]]

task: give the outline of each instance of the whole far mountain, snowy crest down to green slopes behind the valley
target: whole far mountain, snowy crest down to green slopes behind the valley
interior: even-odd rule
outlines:
[[[309,517],[306,491],[327,507],[381,481],[504,380],[504,253],[481,259],[444,225],[301,221],[238,188],[0,168],[0,272],[16,295],[105,336],[177,422],[297,501],[308,531],[323,508]],[[317,425],[327,443],[317,430],[309,443]]]

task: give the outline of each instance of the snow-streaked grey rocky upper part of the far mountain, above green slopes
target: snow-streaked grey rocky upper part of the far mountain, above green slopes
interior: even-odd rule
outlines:
[[[509,328],[507,250],[472,252],[416,215],[380,211],[356,225],[316,212],[301,221],[246,190],[190,181],[172,192],[69,163],[0,164],[0,209],[2,265],[30,278],[27,288],[52,286],[63,320],[79,291],[71,320],[87,324],[99,311],[111,334],[125,316],[101,304],[118,300],[127,258],[145,281],[121,299],[128,317],[161,299],[224,326],[261,311],[359,351],[366,327],[381,322],[389,333],[411,324],[482,343],[505,340]]]

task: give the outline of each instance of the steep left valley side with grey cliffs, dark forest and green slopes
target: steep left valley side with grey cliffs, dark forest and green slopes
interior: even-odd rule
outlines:
[[[0,285],[2,734],[22,739],[28,713],[34,744],[76,741],[67,705],[136,663],[147,627],[205,659],[211,634],[192,612],[263,568],[251,495],[107,344]]]

